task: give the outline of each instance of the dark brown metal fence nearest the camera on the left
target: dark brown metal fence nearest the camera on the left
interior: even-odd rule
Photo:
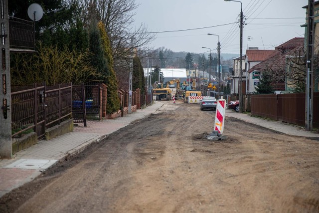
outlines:
[[[46,86],[45,83],[11,87],[12,139],[45,129],[72,115],[72,85]]]

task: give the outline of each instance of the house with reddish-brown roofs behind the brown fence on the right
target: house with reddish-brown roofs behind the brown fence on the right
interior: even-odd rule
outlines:
[[[275,91],[289,91],[289,71],[290,71],[290,59],[295,58],[296,52],[303,56],[304,48],[304,38],[295,37],[289,41],[275,47],[274,50],[268,50],[267,52],[249,51],[247,50],[247,55],[250,57],[248,59],[247,68],[251,67],[247,71],[247,92],[255,92],[256,87],[262,78],[262,72],[270,71],[272,72],[273,87]],[[265,51],[265,50],[264,50]],[[258,54],[259,53],[259,54]],[[263,61],[258,61],[262,60]],[[255,61],[254,61],[255,60]],[[258,63],[257,63],[258,62]]]

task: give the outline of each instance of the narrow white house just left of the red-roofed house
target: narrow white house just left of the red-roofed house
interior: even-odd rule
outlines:
[[[246,93],[246,73],[244,72],[245,69],[245,58],[246,56],[242,56],[242,88],[243,88],[243,94]],[[240,57],[233,59],[233,75],[230,76],[230,93],[236,94],[239,91],[239,78],[240,78]]]

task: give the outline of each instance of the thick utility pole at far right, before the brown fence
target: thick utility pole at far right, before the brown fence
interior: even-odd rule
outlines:
[[[306,77],[306,118],[307,131],[313,130],[313,97],[314,97],[314,41],[315,41],[315,0],[308,0],[307,23],[307,77]]]

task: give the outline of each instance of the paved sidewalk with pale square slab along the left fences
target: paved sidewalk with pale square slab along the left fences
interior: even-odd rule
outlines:
[[[57,138],[41,140],[36,145],[16,153],[10,160],[0,160],[0,197],[11,190],[32,181],[68,155],[81,152],[91,143],[103,140],[109,134],[130,123],[156,113],[163,103],[137,110],[132,114],[103,121],[88,121],[74,126],[74,131]]]

